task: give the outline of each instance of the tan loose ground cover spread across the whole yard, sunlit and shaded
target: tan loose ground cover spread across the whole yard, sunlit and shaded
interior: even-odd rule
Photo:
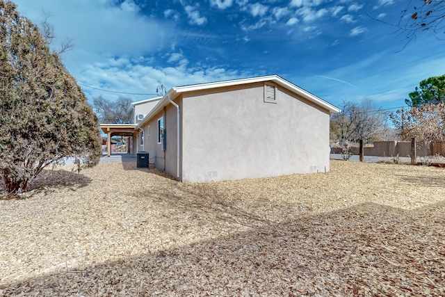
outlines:
[[[209,184],[134,168],[49,170],[0,200],[0,296],[445,296],[443,168]]]

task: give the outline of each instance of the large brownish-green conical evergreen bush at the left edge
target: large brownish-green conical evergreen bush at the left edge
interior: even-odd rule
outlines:
[[[96,115],[47,40],[14,3],[0,0],[0,175],[23,191],[45,166],[99,161]]]

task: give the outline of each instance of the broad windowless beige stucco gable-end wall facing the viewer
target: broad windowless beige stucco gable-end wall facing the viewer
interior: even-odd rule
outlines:
[[[326,110],[264,84],[184,93],[181,179],[209,182],[329,170]]]

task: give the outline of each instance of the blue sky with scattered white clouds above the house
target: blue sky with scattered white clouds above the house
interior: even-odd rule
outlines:
[[[156,94],[161,84],[278,74],[336,106],[367,97],[389,109],[445,73],[445,40],[425,31],[407,43],[383,23],[401,19],[403,0],[14,2],[35,24],[51,15],[54,48],[73,40],[63,63],[90,102],[155,97],[133,94]]]

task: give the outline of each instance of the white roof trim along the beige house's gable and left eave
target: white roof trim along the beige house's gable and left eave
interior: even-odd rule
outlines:
[[[248,79],[234,79],[231,81],[216,81],[213,83],[200,83],[196,85],[191,86],[179,86],[174,87],[168,90],[167,94],[164,95],[164,97],[161,99],[161,101],[154,106],[154,109],[149,112],[148,115],[145,116],[145,118],[138,124],[136,127],[139,128],[145,124],[150,118],[153,117],[156,113],[159,113],[163,109],[164,106],[168,105],[168,96],[170,95],[171,99],[175,99],[177,96],[179,96],[181,93],[186,92],[192,92],[195,90],[208,90],[211,88],[223,88],[227,86],[238,86],[243,85],[247,83],[259,83],[264,81],[273,81],[274,83],[277,83],[278,86],[282,86],[283,88],[286,88],[288,90],[291,90],[293,93],[296,93],[300,95],[301,97],[308,99],[310,102],[313,102],[314,104],[317,104],[318,106],[323,107],[324,109],[327,109],[330,113],[338,113],[340,109],[338,109],[336,106],[325,102],[325,100],[317,97],[314,94],[311,94],[307,92],[307,90],[304,90],[293,83],[286,81],[286,79],[283,79],[282,77],[279,77],[278,75],[268,75],[266,77],[252,77]]]

